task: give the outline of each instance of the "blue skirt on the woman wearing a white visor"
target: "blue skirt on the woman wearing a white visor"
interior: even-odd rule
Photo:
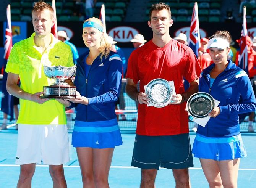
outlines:
[[[241,134],[217,138],[206,137],[197,133],[192,153],[194,157],[216,161],[232,160],[247,156]]]

